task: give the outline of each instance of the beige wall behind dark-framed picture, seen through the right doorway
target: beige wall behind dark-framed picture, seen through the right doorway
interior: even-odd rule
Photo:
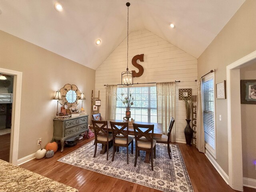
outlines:
[[[256,79],[256,62],[240,69],[240,79]],[[256,105],[241,104],[243,177],[256,179]]]

